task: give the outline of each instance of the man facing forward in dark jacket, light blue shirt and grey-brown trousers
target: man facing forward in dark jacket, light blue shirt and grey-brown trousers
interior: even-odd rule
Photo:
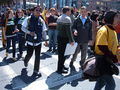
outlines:
[[[76,36],[76,42],[78,42],[78,46],[75,54],[73,54],[70,66],[73,66],[73,62],[76,60],[77,55],[81,50],[80,65],[82,68],[87,55],[88,43],[90,43],[92,40],[92,21],[87,16],[87,8],[85,6],[81,7],[80,15],[73,23],[73,30],[74,35]]]

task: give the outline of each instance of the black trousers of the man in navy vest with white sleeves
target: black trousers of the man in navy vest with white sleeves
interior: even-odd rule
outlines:
[[[35,50],[35,62],[34,62],[34,72],[39,72],[40,66],[40,53],[41,53],[41,44],[38,46],[30,46],[27,45],[27,55],[25,56],[24,61],[26,63],[29,62],[30,58],[33,55],[33,51]]]

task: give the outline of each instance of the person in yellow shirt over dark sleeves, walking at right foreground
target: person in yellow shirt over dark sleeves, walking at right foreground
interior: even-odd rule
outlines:
[[[105,90],[115,90],[115,81],[112,76],[114,73],[110,62],[117,62],[118,40],[114,26],[117,24],[118,14],[109,11],[105,14],[104,21],[105,25],[98,30],[95,42],[96,68],[100,76],[94,90],[101,90],[103,86]],[[108,57],[109,59],[106,59]]]

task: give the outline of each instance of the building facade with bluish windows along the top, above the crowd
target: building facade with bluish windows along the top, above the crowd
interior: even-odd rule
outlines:
[[[57,9],[61,9],[64,6],[73,6],[76,8],[80,8],[81,6],[87,6],[88,9],[91,10],[109,10],[109,9],[117,9],[120,10],[120,0],[13,0],[13,3],[9,5],[14,9],[17,8],[31,8],[34,5],[41,5],[43,8],[51,8],[55,7]],[[7,5],[4,5],[7,6]],[[1,9],[4,9],[1,6]]]

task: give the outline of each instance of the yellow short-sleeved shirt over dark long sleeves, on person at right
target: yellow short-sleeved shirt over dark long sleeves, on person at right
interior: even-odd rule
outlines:
[[[109,28],[110,25],[105,25],[101,27],[97,33],[96,37],[96,45],[95,45],[95,52],[98,55],[104,55],[105,53],[102,52],[99,47],[100,45],[105,45],[111,52],[106,52],[109,54],[116,55],[116,50],[118,46],[117,34],[115,30]]]

